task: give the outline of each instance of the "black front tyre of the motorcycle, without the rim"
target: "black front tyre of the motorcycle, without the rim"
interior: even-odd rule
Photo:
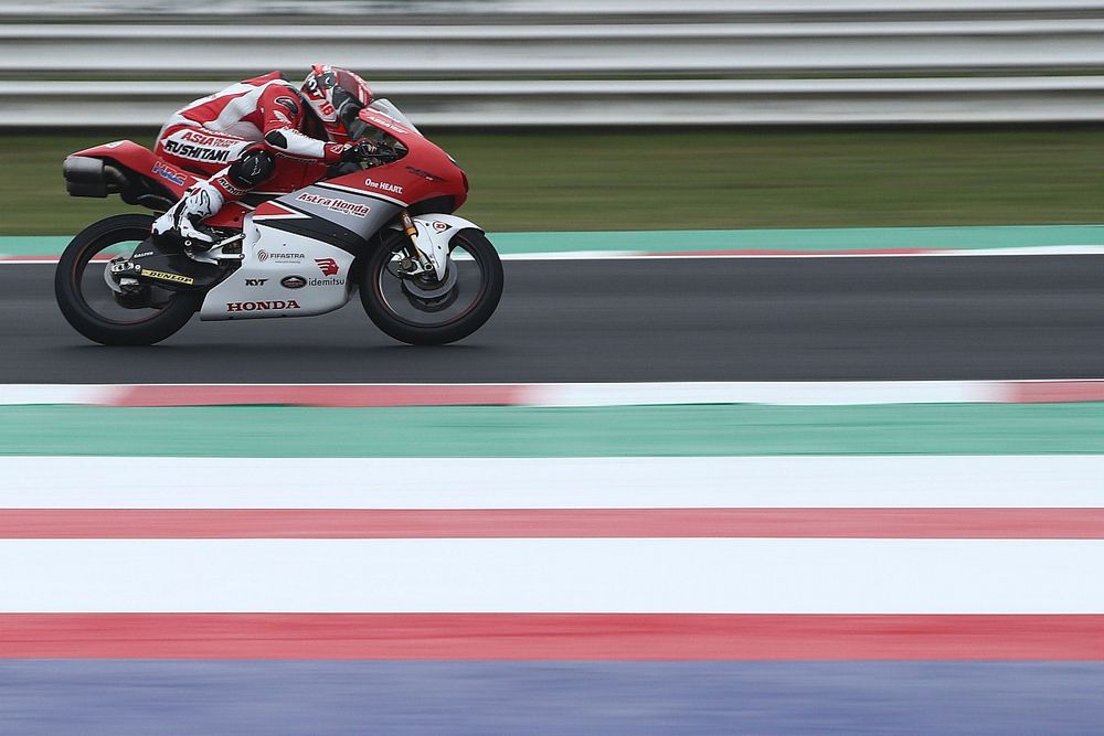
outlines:
[[[487,236],[473,228],[461,230],[453,236],[450,248],[460,248],[470,256],[479,270],[479,286],[473,297],[470,305],[459,308],[458,313],[448,317],[447,309],[455,301],[455,292],[448,298],[438,299],[437,305],[426,309],[424,313],[427,320],[432,320],[434,314],[440,314],[438,323],[425,324],[404,319],[404,317],[389,303],[384,285],[393,285],[399,278],[389,269],[395,252],[403,245],[405,235],[401,233],[388,233],[383,236],[383,242],[378,246],[364,262],[361,270],[360,300],[364,306],[364,311],[369,318],[383,332],[395,340],[410,343],[412,345],[443,345],[456,342],[468,337],[490,319],[502,298],[502,262],[495,250]],[[453,268],[458,268],[454,262]],[[459,289],[455,286],[455,289]],[[394,295],[392,294],[392,298]],[[410,299],[411,303],[416,300]],[[407,310],[408,313],[414,313]],[[422,314],[418,314],[421,317]]]

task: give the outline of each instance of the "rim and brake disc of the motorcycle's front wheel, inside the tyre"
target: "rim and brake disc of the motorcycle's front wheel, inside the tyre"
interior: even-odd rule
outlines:
[[[445,277],[403,278],[397,265],[405,258],[392,253],[375,277],[380,303],[399,321],[411,327],[432,329],[453,324],[471,313],[484,300],[489,280],[489,265],[477,248],[463,236],[449,245]]]

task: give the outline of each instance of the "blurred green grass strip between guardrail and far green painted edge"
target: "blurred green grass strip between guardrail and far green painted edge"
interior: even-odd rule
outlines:
[[[112,134],[3,135],[0,234],[128,210],[71,199],[66,153]],[[131,136],[150,145],[151,134]],[[1096,223],[1104,130],[449,132],[463,213],[492,232]]]

